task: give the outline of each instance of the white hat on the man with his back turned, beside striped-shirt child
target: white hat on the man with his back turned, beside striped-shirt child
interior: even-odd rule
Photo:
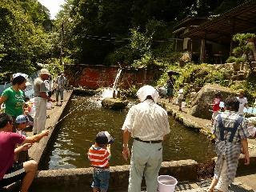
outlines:
[[[137,96],[140,102],[144,102],[147,96],[151,96],[154,100],[154,102],[158,102],[159,94],[156,89],[154,89],[153,86],[142,86],[137,91]]]

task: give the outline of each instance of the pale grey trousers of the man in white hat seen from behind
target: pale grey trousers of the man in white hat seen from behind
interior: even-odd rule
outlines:
[[[141,192],[142,177],[146,191],[158,190],[158,172],[162,163],[162,143],[146,143],[134,140],[130,158],[128,192]]]

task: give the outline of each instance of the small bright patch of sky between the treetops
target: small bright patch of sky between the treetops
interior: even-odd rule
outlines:
[[[58,10],[61,9],[60,6],[65,2],[65,0],[38,0],[38,2],[50,10],[50,18],[55,18]]]

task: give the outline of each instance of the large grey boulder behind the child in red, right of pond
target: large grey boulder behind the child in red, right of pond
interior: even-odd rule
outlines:
[[[222,101],[230,96],[235,96],[234,90],[216,84],[206,84],[206,86],[203,86],[202,89],[194,95],[191,102],[190,114],[197,118],[211,119],[212,106],[210,106],[209,103],[213,103],[214,94],[217,92],[222,94]]]

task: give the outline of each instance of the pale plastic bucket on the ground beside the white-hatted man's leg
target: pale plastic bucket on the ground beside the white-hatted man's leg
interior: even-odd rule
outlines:
[[[178,181],[176,178],[170,175],[160,175],[158,176],[158,191],[159,192],[174,192],[175,186]]]

